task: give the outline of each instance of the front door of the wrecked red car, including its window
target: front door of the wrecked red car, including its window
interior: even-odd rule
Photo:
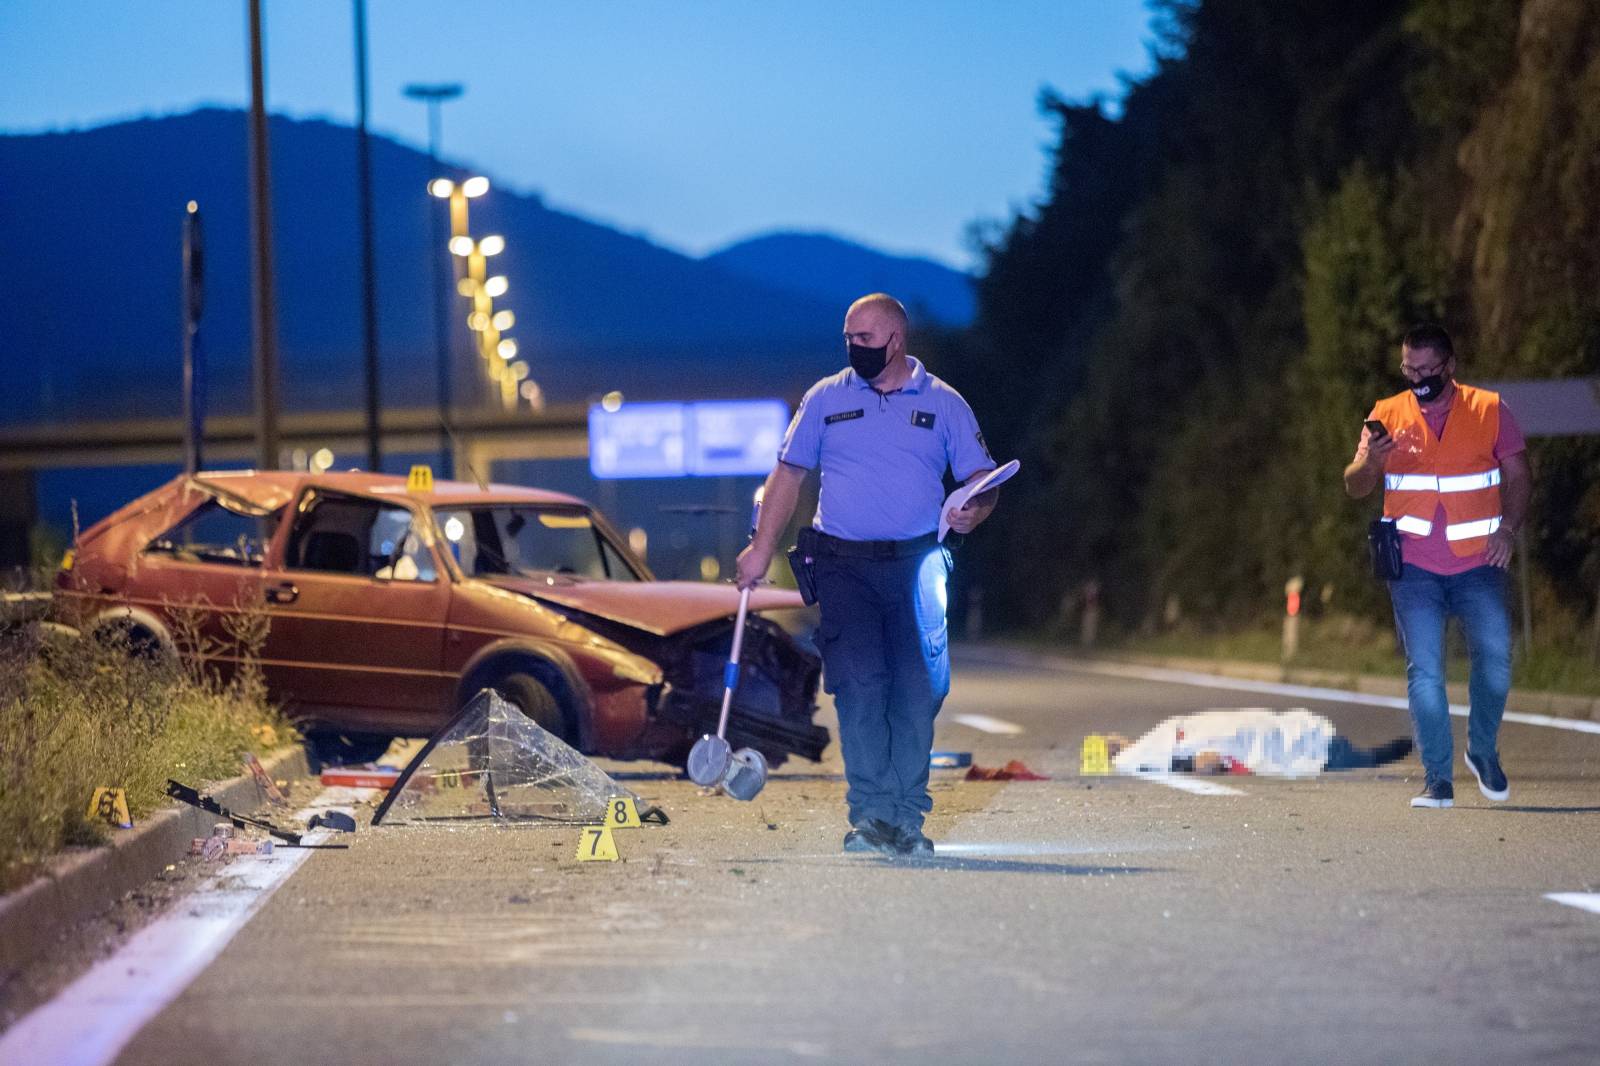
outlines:
[[[448,714],[450,581],[410,501],[307,488],[266,584],[267,683],[330,725],[427,733]]]

